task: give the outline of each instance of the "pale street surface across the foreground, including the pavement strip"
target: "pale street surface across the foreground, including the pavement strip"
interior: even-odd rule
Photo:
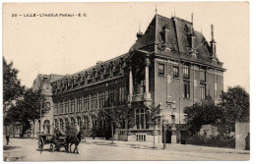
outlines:
[[[195,145],[162,144],[152,148],[152,143],[138,143],[88,139],[79,145],[79,154],[49,152],[45,145],[38,151],[37,140],[31,138],[11,138],[9,146],[4,146],[4,160],[11,161],[65,161],[65,160],[249,160],[249,151]]]

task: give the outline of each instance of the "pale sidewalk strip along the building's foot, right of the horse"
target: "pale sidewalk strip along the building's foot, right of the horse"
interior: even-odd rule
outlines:
[[[111,145],[111,140],[87,138],[86,141],[82,141],[82,143]],[[114,140],[114,144],[112,146],[163,150],[163,151],[176,151],[176,152],[250,154],[249,150],[236,150],[232,148],[210,147],[210,146],[179,144],[179,143],[176,143],[176,144],[166,143],[166,149],[163,149],[163,143],[156,143],[154,148],[153,142]]]

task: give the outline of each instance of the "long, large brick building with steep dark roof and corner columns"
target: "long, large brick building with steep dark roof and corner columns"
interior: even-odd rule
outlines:
[[[214,27],[212,40],[193,28],[192,22],[158,14],[129,52],[98,62],[79,73],[64,76],[52,87],[52,116],[47,123],[64,131],[66,125],[86,130],[107,129],[102,109],[125,110],[115,127],[115,139],[157,141],[162,124],[169,129],[167,142],[179,142],[186,106],[211,95],[218,102],[224,88],[223,63],[218,59]],[[159,126],[149,124],[158,109]],[[155,128],[154,128],[155,127]]]

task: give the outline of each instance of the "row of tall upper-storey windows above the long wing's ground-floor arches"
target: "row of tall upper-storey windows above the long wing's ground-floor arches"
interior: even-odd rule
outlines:
[[[58,102],[54,105],[54,114],[66,114],[96,110],[104,107],[124,105],[126,102],[126,87],[116,87],[99,91],[83,97]]]

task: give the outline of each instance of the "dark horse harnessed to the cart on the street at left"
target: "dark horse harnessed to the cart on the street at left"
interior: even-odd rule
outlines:
[[[82,131],[79,131],[79,133],[76,134],[75,136],[68,136],[68,137],[66,137],[66,145],[67,145],[68,152],[71,152],[71,146],[73,144],[75,144],[75,148],[73,150],[73,153],[76,152],[77,154],[79,154],[79,152],[78,152],[78,145],[79,145],[81,139],[82,139]]]

